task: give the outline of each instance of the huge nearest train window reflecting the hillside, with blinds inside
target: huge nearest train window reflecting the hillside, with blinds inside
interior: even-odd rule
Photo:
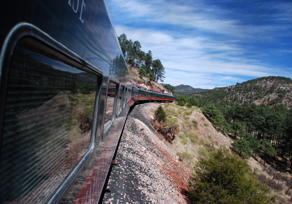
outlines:
[[[89,146],[98,74],[32,38],[11,60],[0,203],[44,203]]]

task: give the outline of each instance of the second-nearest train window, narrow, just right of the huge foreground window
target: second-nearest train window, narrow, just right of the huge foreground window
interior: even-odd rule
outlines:
[[[114,102],[115,102],[115,96],[116,96],[116,88],[117,83],[110,80],[109,85],[107,88],[107,99],[106,99],[106,106],[105,106],[105,119],[103,123],[104,129],[109,126],[113,119],[113,112],[114,112]]]

